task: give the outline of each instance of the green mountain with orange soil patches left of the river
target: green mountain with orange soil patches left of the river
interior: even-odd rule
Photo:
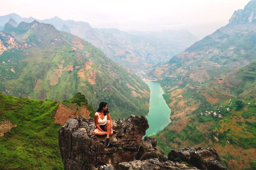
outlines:
[[[108,102],[113,118],[148,112],[146,83],[79,37],[33,21],[5,24],[0,40],[4,94],[65,100],[81,92],[95,109]]]

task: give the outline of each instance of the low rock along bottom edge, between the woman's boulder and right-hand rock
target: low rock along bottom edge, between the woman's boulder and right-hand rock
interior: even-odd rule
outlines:
[[[182,170],[180,167],[182,169],[195,170],[193,167],[187,167],[184,164],[173,163],[171,161],[162,163],[157,158],[144,161],[122,162],[118,164],[117,170]]]

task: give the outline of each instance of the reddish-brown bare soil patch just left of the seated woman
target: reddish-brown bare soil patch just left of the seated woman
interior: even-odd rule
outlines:
[[[78,106],[77,104],[72,103],[68,107],[60,103],[56,114],[54,115],[54,122],[64,125],[69,118],[75,118],[76,116],[81,116],[82,118],[90,118],[89,115],[90,112],[84,105]]]

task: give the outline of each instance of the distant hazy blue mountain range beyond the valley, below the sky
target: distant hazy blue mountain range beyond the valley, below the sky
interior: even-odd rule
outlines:
[[[145,70],[159,62],[167,62],[173,55],[189,47],[197,37],[187,30],[164,30],[162,32],[120,31],[118,29],[97,29],[83,21],[62,20],[55,16],[51,19],[38,20],[33,17],[23,18],[12,13],[0,16],[0,25],[21,21],[54,25],[57,30],[66,31],[81,37],[101,49],[109,58],[132,69],[134,72]]]

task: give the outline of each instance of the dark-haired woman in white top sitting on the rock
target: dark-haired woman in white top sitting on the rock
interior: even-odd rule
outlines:
[[[113,135],[113,122],[108,111],[108,103],[101,102],[99,104],[99,108],[94,115],[94,123],[96,129],[93,133],[95,135],[107,135],[105,146],[108,147],[109,136]]]

